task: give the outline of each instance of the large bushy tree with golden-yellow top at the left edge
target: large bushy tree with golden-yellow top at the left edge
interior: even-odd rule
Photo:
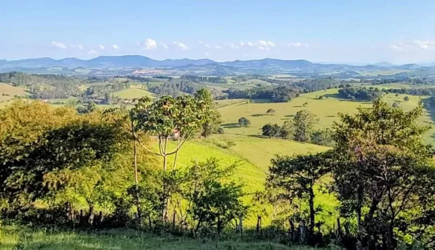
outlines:
[[[67,186],[76,170],[112,159],[125,139],[96,112],[78,115],[39,101],[1,109],[0,123],[0,196],[17,209]]]

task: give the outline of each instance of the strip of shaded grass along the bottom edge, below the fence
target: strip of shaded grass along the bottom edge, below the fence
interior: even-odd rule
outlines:
[[[0,249],[313,249],[268,240],[207,240],[155,236],[131,229],[99,232],[49,231],[0,227]]]

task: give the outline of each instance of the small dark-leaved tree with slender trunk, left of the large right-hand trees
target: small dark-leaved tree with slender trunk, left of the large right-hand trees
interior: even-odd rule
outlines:
[[[314,185],[318,185],[319,180],[330,171],[326,155],[317,153],[295,157],[276,156],[269,167],[267,186],[282,188],[284,193],[281,197],[293,206],[296,199],[308,203],[310,235],[314,233],[315,226]]]

